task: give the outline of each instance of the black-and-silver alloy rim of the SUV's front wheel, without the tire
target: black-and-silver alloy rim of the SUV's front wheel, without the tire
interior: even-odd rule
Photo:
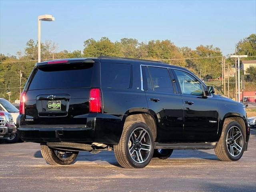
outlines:
[[[228,130],[226,145],[228,148],[228,152],[234,157],[238,156],[242,151],[243,137],[242,132],[237,126],[232,126]]]

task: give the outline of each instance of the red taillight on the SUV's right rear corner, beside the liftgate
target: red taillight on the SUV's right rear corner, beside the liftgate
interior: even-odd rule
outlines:
[[[90,112],[100,113],[102,111],[100,89],[94,88],[90,90],[89,109]]]

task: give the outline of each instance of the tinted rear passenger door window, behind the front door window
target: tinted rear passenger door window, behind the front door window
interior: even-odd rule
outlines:
[[[172,80],[167,68],[148,67],[148,69],[150,71],[155,91],[174,93]]]

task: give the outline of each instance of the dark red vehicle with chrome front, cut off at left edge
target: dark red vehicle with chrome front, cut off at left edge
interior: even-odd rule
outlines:
[[[12,143],[17,142],[19,137],[16,134],[16,126],[12,115],[9,112],[0,111],[0,140]]]

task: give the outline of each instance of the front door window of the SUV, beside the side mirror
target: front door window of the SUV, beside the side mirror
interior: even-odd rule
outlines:
[[[178,83],[180,84],[182,94],[204,94],[201,83],[194,76],[180,70],[174,70],[174,72],[178,78]]]

